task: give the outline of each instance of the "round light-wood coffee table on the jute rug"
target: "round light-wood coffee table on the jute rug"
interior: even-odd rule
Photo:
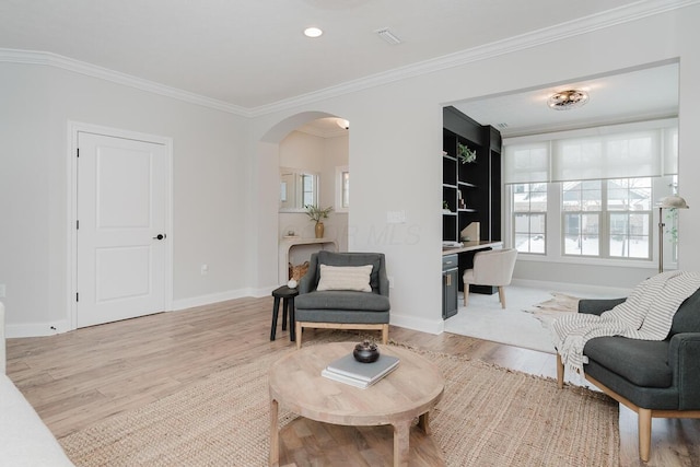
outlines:
[[[270,466],[279,465],[279,405],[307,419],[352,427],[394,427],[394,465],[407,466],[411,422],[430,434],[429,411],[442,397],[445,382],[424,358],[397,347],[380,352],[400,359],[382,381],[360,389],[320,375],[329,362],[352,352],[354,343],[305,347],[275,362],[270,385]]]

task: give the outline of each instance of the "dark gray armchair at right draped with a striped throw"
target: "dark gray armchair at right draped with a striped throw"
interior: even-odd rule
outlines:
[[[600,315],[623,301],[581,300],[579,313]],[[665,340],[598,337],[583,353],[586,380],[638,413],[642,460],[649,460],[652,418],[700,418],[700,290],[678,307]],[[557,364],[562,387],[560,358]]]

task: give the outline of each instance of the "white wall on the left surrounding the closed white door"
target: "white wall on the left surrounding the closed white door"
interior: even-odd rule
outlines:
[[[69,120],[172,138],[175,307],[248,293],[245,119],[33,65],[0,63],[0,283],[10,336],[67,330]]]

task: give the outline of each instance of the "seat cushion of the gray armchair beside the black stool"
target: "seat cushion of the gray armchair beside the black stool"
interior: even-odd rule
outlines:
[[[387,312],[389,297],[378,293],[353,291],[315,291],[302,293],[294,301],[296,310],[362,310]]]

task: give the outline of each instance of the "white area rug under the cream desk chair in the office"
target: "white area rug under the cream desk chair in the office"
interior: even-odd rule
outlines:
[[[498,293],[471,293],[467,307],[462,306],[464,302],[459,294],[459,311],[445,320],[445,331],[553,354],[551,322],[562,313],[575,312],[578,296],[583,294],[510,285],[505,288],[508,306],[503,310]],[[585,296],[610,295],[603,292],[586,293]]]

